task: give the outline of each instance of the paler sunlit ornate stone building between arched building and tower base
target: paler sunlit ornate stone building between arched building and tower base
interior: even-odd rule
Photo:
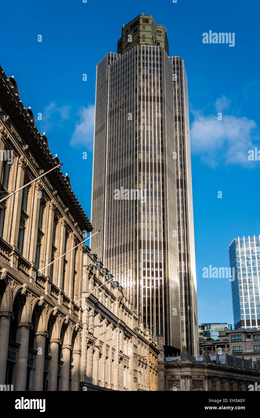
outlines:
[[[82,296],[110,279],[86,247]],[[84,298],[82,308],[82,390],[158,390],[157,340],[138,322],[125,289],[110,280]]]

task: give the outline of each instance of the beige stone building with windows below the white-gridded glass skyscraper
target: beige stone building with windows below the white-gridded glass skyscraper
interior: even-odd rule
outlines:
[[[230,353],[245,359],[260,359],[260,329],[236,329],[219,331],[218,340],[201,339],[200,354],[207,350],[209,354]]]

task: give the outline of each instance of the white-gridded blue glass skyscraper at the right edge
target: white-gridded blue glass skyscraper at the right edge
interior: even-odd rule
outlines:
[[[235,329],[260,327],[260,236],[234,238],[229,246]]]

